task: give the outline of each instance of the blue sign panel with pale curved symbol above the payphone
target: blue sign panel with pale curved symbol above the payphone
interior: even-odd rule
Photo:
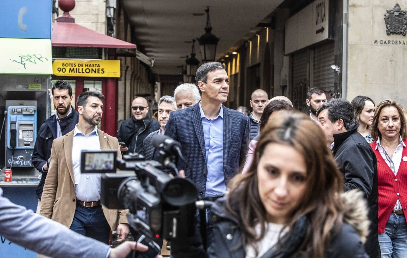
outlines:
[[[0,0],[0,6],[0,38],[51,38],[52,0]]]

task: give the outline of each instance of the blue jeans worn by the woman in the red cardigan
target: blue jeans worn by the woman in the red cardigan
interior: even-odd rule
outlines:
[[[407,224],[404,215],[390,215],[385,232],[379,234],[379,245],[382,258],[407,257]]]

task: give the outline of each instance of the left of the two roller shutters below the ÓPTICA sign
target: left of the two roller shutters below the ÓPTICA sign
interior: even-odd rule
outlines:
[[[294,108],[305,112],[305,99],[307,93],[307,64],[308,64],[308,51],[298,52],[293,54],[293,83],[292,83],[292,97]]]

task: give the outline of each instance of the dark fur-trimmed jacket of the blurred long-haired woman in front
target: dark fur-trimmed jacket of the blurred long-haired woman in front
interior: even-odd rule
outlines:
[[[330,248],[326,250],[325,257],[329,258],[368,258],[361,238],[368,234],[366,221],[366,203],[357,190],[345,193],[344,223],[333,238]],[[245,258],[245,248],[242,245],[241,223],[225,209],[225,199],[218,199],[212,206],[212,223],[214,225],[212,244],[204,251],[201,236],[196,233],[188,239],[171,240],[171,252],[174,258]],[[362,199],[362,200],[361,200]],[[232,209],[239,209],[234,207]],[[279,243],[263,256],[264,258],[291,258],[307,257],[299,253],[307,230],[307,219],[300,216],[295,222],[291,233],[283,236]],[[198,232],[199,230],[196,230]]]

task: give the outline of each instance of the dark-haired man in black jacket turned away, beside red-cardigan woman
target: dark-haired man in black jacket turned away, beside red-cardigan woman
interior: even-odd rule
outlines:
[[[317,110],[317,118],[324,130],[340,171],[344,174],[345,190],[358,188],[368,200],[370,232],[365,250],[371,258],[380,256],[378,239],[378,188],[376,156],[368,142],[358,133],[353,108],[349,101],[333,98]]]

